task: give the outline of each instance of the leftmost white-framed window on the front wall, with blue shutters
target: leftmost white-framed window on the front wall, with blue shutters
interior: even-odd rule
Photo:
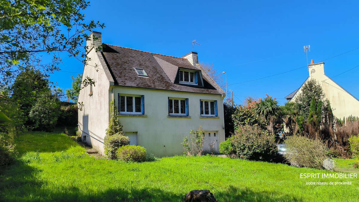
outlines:
[[[118,114],[144,114],[143,95],[124,95],[118,93]]]

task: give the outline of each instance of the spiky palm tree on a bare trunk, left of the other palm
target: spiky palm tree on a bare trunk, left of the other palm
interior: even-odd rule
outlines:
[[[255,108],[256,112],[267,122],[267,129],[273,133],[273,124],[279,114],[278,102],[271,96],[267,96],[264,100],[260,100]]]

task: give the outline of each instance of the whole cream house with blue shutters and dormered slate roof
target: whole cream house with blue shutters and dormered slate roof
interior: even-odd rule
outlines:
[[[95,36],[95,40],[94,37]],[[83,78],[95,86],[81,89],[78,102],[82,141],[103,151],[113,100],[130,144],[157,156],[184,152],[181,142],[191,129],[206,131],[204,150],[224,138],[224,91],[198,64],[196,52],[173,57],[102,43],[101,33],[91,32],[87,41]],[[96,48],[102,46],[101,51]]]

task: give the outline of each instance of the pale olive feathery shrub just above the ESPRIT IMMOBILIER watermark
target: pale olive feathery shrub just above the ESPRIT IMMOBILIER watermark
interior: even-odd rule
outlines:
[[[284,143],[288,148],[284,157],[293,165],[322,169],[323,161],[328,158],[327,149],[319,139],[292,136]]]

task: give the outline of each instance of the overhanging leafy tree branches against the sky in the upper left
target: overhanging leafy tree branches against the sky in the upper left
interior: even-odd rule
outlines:
[[[82,12],[88,6],[85,0],[1,0],[0,86],[7,86],[24,69],[59,70],[59,52],[87,64],[82,45],[86,32],[104,27],[85,20]],[[50,59],[42,62],[43,55]]]

